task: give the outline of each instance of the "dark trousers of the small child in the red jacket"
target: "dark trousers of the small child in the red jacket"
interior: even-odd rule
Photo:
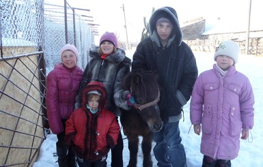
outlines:
[[[107,155],[102,157],[100,160],[90,162],[89,160],[83,160],[80,157],[77,157],[77,162],[79,167],[107,167]]]

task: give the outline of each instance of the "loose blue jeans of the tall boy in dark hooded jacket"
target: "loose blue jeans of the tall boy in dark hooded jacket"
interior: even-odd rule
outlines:
[[[175,123],[164,123],[160,132],[153,133],[154,156],[158,161],[157,165],[161,167],[186,165],[186,155],[184,146],[180,137],[179,121]]]

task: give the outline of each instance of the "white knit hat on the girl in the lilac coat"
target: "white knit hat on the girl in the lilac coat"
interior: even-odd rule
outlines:
[[[234,60],[234,63],[237,63],[239,52],[240,52],[240,48],[238,44],[236,44],[236,42],[233,41],[222,42],[214,52],[214,61],[216,61],[218,56],[225,55],[227,57],[232,58]]]

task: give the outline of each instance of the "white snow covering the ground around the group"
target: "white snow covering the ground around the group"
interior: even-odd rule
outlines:
[[[126,55],[128,57],[132,57],[134,50],[126,50]],[[212,68],[212,65],[215,63],[213,59],[212,52],[194,52],[195,57],[197,59],[197,67],[200,72],[204,70],[209,70]],[[261,76],[263,71],[263,57],[256,57],[253,55],[240,55],[238,59],[238,63],[236,64],[236,70],[245,74],[253,87],[253,91],[255,94],[255,118],[254,118],[254,127],[249,134],[248,140],[241,140],[240,143],[240,151],[238,157],[232,160],[232,166],[251,166],[257,167],[262,166],[263,164],[263,77]],[[193,126],[191,127],[191,122],[189,119],[189,103],[184,106],[184,121],[181,119],[180,121],[180,132],[182,137],[182,144],[184,145],[184,149],[186,151],[187,165],[189,167],[199,167],[202,165],[202,157],[203,155],[200,153],[199,145],[201,142],[201,135],[197,136],[193,132]],[[128,140],[124,138],[124,151],[123,151],[123,159],[124,166],[128,165],[129,160],[129,151],[128,151]],[[46,167],[46,166],[58,166],[56,163],[57,157],[53,156],[56,152],[55,142],[57,141],[57,137],[54,134],[49,134],[44,140],[41,148],[40,155],[38,157],[37,162],[33,164],[33,167]],[[154,147],[154,142],[152,143]],[[139,148],[138,153],[138,164],[137,166],[142,166],[142,153]],[[156,167],[157,162],[152,153],[152,160],[154,162],[154,167]],[[107,164],[110,166],[111,164],[111,152],[109,152],[109,157],[107,159]]]

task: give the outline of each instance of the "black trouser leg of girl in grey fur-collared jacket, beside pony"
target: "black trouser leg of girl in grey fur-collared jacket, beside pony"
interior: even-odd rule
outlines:
[[[117,138],[117,145],[115,145],[115,147],[111,149],[111,167],[123,167],[122,151],[123,140],[122,133],[120,132]]]

